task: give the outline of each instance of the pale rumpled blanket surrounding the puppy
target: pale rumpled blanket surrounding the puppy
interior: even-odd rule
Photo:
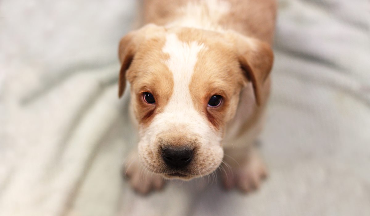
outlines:
[[[148,197],[120,176],[136,137],[117,50],[137,3],[0,1],[1,216],[370,215],[368,0],[279,1],[260,190],[205,178]]]

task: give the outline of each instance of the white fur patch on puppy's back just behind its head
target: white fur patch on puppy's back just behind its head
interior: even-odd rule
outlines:
[[[177,9],[177,16],[166,23],[166,27],[193,27],[197,29],[223,31],[220,25],[223,16],[229,13],[230,4],[222,0],[189,1]]]

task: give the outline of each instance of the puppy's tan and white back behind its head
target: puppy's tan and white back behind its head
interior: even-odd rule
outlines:
[[[144,22],[235,30],[272,43],[275,0],[145,0]]]

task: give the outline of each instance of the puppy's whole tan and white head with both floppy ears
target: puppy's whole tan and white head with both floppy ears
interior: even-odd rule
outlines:
[[[119,95],[127,79],[141,162],[164,177],[191,179],[221,164],[225,126],[249,80],[263,100],[272,52],[233,32],[148,24],[121,40],[120,60]]]

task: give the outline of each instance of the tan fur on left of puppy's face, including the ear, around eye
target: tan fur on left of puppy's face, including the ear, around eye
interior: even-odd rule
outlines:
[[[161,112],[163,107],[168,103],[174,86],[171,79],[171,72],[162,63],[168,59],[168,55],[161,51],[161,47],[165,42],[163,37],[161,37],[163,34],[160,34],[163,29],[156,26],[149,26],[148,28],[150,30],[141,29],[138,31],[142,32],[128,34],[120,42],[122,66],[120,71],[119,96],[121,97],[123,94],[125,88],[124,83],[126,82],[125,77],[127,77],[131,83],[131,93],[133,95],[131,103],[134,106],[137,121],[142,126],[148,125],[155,114]],[[156,31],[157,35],[153,36],[150,34],[150,31]],[[132,38],[133,35],[143,37],[134,40]],[[145,43],[143,43],[144,41]],[[127,59],[131,59],[131,61],[135,59],[135,61],[131,65],[131,62],[128,63]],[[129,70],[127,70],[128,67]],[[142,100],[142,93],[144,92],[151,92],[154,95],[157,102],[156,106],[146,104]]]

